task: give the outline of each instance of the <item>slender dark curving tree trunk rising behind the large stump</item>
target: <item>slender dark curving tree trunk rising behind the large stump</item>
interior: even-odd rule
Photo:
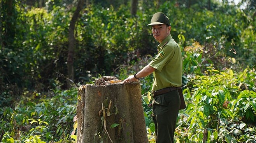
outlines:
[[[77,9],[74,12],[74,15],[70,21],[69,31],[68,31],[68,81],[67,87],[70,88],[72,83],[74,83],[74,46],[75,46],[75,23],[80,16],[80,11],[84,5],[85,0],[79,0],[77,4]]]

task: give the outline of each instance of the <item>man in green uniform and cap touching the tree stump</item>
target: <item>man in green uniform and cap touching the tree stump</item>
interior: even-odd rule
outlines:
[[[173,143],[181,104],[177,90],[181,88],[181,49],[170,35],[171,26],[165,14],[155,13],[147,26],[151,26],[154,38],[160,43],[158,54],[147,66],[123,82],[135,81],[154,72],[152,115],[156,127],[156,143]]]

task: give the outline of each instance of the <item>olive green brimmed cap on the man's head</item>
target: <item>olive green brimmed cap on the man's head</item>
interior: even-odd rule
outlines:
[[[151,19],[151,23],[147,24],[147,26],[158,24],[167,24],[168,26],[170,26],[169,18],[161,12],[156,12]]]

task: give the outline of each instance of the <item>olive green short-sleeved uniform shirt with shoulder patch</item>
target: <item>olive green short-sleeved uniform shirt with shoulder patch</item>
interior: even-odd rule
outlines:
[[[158,45],[158,54],[149,66],[155,68],[152,90],[165,87],[180,87],[182,76],[182,54],[179,44],[167,36]]]

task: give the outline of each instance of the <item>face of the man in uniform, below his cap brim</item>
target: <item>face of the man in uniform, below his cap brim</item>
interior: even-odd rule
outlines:
[[[166,24],[153,25],[151,31],[156,41],[161,43],[170,34],[171,27]]]

